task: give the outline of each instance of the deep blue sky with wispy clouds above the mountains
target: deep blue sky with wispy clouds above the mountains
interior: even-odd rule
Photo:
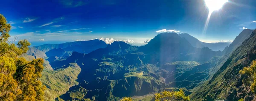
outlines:
[[[0,14],[11,23],[12,38],[33,45],[102,37],[139,45],[163,29],[218,42],[256,28],[255,4],[229,0],[212,13],[205,33],[209,10],[204,0],[2,0]]]

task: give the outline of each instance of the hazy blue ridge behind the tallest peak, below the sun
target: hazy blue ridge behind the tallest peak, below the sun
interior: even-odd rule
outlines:
[[[197,47],[197,48],[203,48],[203,47],[209,47],[209,49],[212,49],[213,51],[223,51],[223,49],[225,49],[226,46],[229,46],[230,43],[205,43],[205,42],[201,42],[199,41],[197,38],[186,34],[186,33],[182,33],[179,34],[179,36],[181,38],[185,38],[187,41],[189,41],[189,43],[193,46],[193,47]]]

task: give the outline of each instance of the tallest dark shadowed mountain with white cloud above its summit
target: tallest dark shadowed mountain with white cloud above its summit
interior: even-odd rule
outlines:
[[[177,33],[158,34],[147,45],[139,47],[139,51],[149,55],[151,62],[160,64],[182,60],[204,63],[213,56],[221,56],[220,51],[213,52],[207,47],[193,47]]]

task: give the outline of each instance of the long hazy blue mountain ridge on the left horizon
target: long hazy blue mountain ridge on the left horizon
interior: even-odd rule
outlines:
[[[29,47],[27,55],[43,58],[49,62],[63,60],[72,55],[72,52],[89,53],[96,49],[105,48],[107,44],[102,40],[75,41],[64,44],[44,44]]]

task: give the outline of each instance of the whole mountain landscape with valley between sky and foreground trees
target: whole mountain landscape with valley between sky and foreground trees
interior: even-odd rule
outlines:
[[[232,82],[239,79],[232,77],[238,75],[237,70],[230,69],[239,59],[253,55],[250,50],[255,46],[256,34],[252,32],[243,30],[230,45],[204,43],[189,34],[161,33],[144,46],[122,41],[76,41],[30,47],[22,57],[45,59],[41,81],[58,100],[118,101],[124,96],[151,99],[144,95],[178,88],[195,101],[220,97],[236,100],[239,97],[231,99],[222,92],[212,96],[216,90],[231,91],[228,86],[219,86],[223,90],[212,86],[216,82],[239,85]]]

